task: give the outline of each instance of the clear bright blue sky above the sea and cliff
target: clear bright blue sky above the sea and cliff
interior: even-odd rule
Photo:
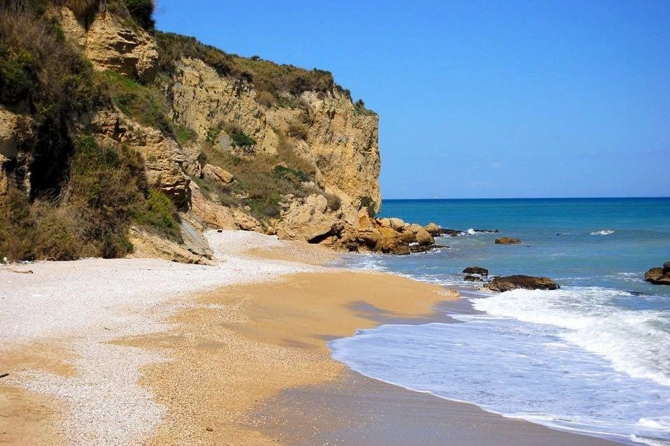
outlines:
[[[670,1],[157,0],[158,29],[331,71],[385,199],[670,196]]]

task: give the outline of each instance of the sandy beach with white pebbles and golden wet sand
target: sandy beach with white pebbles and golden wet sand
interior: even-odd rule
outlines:
[[[0,268],[0,444],[604,445],[370,380],[327,341],[424,322],[458,294],[323,266],[332,252],[210,231],[215,266]]]

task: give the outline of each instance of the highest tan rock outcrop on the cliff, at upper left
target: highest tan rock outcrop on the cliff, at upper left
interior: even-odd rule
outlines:
[[[158,46],[141,28],[130,28],[118,17],[101,10],[88,29],[69,8],[58,10],[64,33],[83,49],[96,69],[123,73],[151,81],[158,71]]]

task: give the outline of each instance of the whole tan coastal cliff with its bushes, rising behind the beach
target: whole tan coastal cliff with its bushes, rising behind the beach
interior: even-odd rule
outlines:
[[[151,15],[123,0],[14,3],[0,23],[0,69],[15,75],[0,85],[0,250],[4,240],[11,258],[207,262],[197,233],[208,227],[384,250],[366,220],[381,204],[379,118],[330,73],[145,29]],[[31,76],[40,70],[46,81]],[[67,243],[8,247],[45,230]],[[354,243],[360,230],[373,240]]]

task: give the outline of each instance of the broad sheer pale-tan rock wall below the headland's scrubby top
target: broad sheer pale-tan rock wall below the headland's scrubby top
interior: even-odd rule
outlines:
[[[256,90],[225,78],[200,61],[183,57],[169,81],[174,119],[193,129],[199,140],[211,137],[216,126],[233,122],[256,141],[251,154],[274,154],[279,134],[295,122],[305,121],[305,112],[290,108],[265,108],[256,102]],[[361,207],[377,213],[379,192],[379,143],[377,115],[357,113],[340,92],[300,97],[309,108],[304,141],[298,141],[298,156],[314,166],[316,184],[336,194],[343,204],[344,220],[354,224]],[[216,138],[218,148],[235,150],[223,131]],[[347,212],[348,211],[348,212]]]

